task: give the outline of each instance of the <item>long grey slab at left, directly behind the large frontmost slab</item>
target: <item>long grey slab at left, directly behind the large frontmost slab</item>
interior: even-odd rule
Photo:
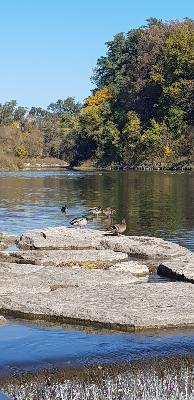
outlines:
[[[0,262],[0,295],[20,292],[49,292],[59,287],[90,288],[102,285],[126,285],[139,283],[139,279],[129,273],[119,275],[109,270],[88,268],[65,268],[59,266],[32,266]]]

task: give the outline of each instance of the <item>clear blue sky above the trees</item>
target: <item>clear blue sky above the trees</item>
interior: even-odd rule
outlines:
[[[194,18],[193,0],[1,0],[0,102],[46,108],[58,98],[83,101],[105,42],[118,32]]]

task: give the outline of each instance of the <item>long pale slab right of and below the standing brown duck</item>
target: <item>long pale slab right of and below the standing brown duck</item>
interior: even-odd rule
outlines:
[[[106,236],[101,240],[98,248],[149,258],[172,258],[190,253],[189,250],[176,243],[149,236]]]

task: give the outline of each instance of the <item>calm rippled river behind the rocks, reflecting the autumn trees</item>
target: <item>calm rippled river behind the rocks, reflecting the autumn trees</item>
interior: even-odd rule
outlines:
[[[0,172],[0,231],[21,234],[68,225],[101,204],[117,211],[110,223],[126,218],[127,235],[160,236],[194,250],[194,173],[68,173],[64,169]],[[61,213],[64,204],[69,207],[66,216]],[[90,216],[88,228],[107,226],[108,218]]]

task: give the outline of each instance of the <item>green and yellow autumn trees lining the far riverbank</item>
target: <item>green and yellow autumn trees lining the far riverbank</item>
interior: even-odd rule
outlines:
[[[101,166],[194,157],[194,21],[148,18],[106,45],[83,104],[0,104],[0,152]]]

